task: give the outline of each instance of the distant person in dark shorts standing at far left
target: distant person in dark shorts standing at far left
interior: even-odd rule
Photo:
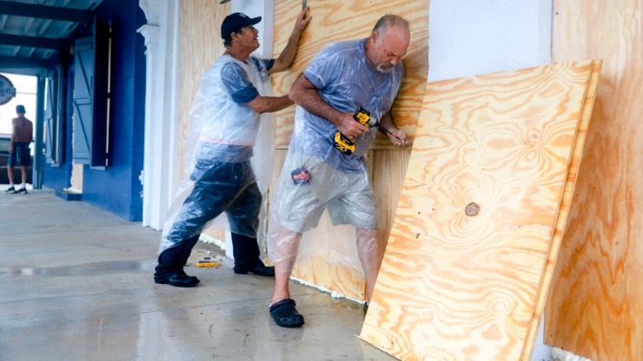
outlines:
[[[27,166],[31,162],[29,154],[29,143],[34,139],[34,123],[24,118],[24,106],[15,107],[15,113],[18,115],[14,118],[12,125],[14,131],[11,133],[11,142],[9,143],[9,161],[7,163],[7,172],[9,175],[9,189],[5,193],[27,194]],[[23,177],[23,183],[18,190],[14,187],[14,167],[20,163],[20,171]]]

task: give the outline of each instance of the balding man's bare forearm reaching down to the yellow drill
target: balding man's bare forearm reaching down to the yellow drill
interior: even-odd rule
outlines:
[[[324,102],[317,93],[318,90],[302,73],[290,90],[290,99],[308,112],[335,124],[339,132],[350,139],[354,139],[363,132],[368,132],[368,128],[353,119],[353,112],[339,112]]]

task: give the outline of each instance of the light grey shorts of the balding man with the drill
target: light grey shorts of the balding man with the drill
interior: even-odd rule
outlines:
[[[291,173],[302,167],[312,178],[307,183],[296,183]],[[375,198],[365,171],[345,173],[317,157],[290,151],[279,176],[276,197],[281,225],[297,233],[317,227],[326,209],[335,226],[377,228]]]

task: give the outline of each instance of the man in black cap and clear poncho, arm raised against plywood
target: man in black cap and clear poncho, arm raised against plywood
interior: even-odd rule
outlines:
[[[306,14],[304,9],[297,16],[286,48],[278,59],[270,60],[251,55],[259,47],[258,30],[253,25],[261,17],[235,13],[223,20],[221,38],[226,52],[201,77],[190,110],[186,145],[187,154],[193,150],[191,164],[186,167],[190,175],[181,182],[163,227],[156,283],[186,288],[199,283],[198,278],[186,275],[183,267],[200,233],[223,212],[232,234],[235,273],[275,276],[275,268],[259,259],[261,192],[250,159],[259,129],[270,126],[259,122],[260,114],[293,105],[287,95],[269,96],[268,74],[290,67],[301,33],[310,21]]]

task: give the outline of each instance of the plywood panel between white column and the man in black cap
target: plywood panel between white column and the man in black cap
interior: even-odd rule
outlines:
[[[218,1],[180,1],[180,141],[179,174],[183,180],[183,150],[190,136],[190,108],[199,90],[201,75],[225,52],[220,36],[221,22],[230,14],[230,3]],[[225,232],[205,233],[225,242]]]

